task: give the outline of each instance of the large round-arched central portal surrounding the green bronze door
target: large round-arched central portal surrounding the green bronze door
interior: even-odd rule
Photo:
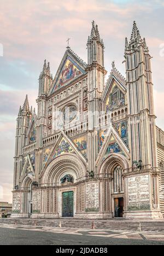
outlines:
[[[75,217],[77,212],[79,214],[83,204],[80,201],[80,190],[75,183],[86,179],[85,163],[77,155],[61,155],[52,160],[42,174],[40,175],[41,183],[46,184],[47,187],[55,187],[56,197],[53,200],[50,200],[50,196],[45,197],[47,214],[56,213],[61,218]],[[44,209],[42,211],[45,212]]]

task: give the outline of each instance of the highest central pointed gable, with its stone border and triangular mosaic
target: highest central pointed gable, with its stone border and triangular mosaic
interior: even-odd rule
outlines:
[[[68,48],[55,75],[50,94],[86,74],[85,69],[86,63]]]

